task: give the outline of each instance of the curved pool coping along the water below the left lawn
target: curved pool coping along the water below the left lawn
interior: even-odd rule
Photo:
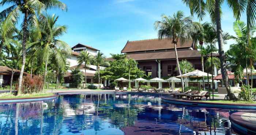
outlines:
[[[15,98],[15,99],[0,99],[0,104],[51,100],[51,99],[56,99],[57,96],[58,96],[57,94],[54,94],[52,96],[42,96],[42,97],[22,97],[22,98]]]

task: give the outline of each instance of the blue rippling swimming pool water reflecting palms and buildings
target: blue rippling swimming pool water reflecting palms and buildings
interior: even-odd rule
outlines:
[[[63,95],[0,104],[0,135],[238,135],[229,121],[237,111],[244,110],[173,105],[158,95]]]

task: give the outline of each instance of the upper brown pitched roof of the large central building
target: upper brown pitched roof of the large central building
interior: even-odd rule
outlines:
[[[174,49],[173,43],[170,39],[147,39],[138,41],[127,41],[121,53],[135,52],[135,51],[149,51],[149,50],[165,50]],[[183,44],[177,43],[177,48],[193,47],[193,42],[188,41]]]

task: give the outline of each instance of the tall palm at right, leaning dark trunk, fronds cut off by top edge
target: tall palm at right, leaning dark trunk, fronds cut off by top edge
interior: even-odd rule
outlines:
[[[219,46],[219,55],[221,61],[221,74],[224,84],[227,89],[228,96],[231,100],[235,100],[231,94],[230,85],[227,77],[227,69],[225,66],[225,53],[223,50],[223,38],[222,38],[222,28],[221,28],[221,5],[224,0],[182,0],[191,11],[191,15],[197,15],[199,20],[203,20],[206,16],[206,12],[210,14],[211,22],[216,24],[217,29],[217,39]],[[248,29],[251,29],[255,25],[256,20],[256,1],[255,0],[226,0],[229,7],[232,9],[234,18],[240,19],[242,12],[246,12],[246,22]],[[249,34],[247,34],[249,35]],[[248,36],[248,41],[250,38]],[[250,43],[249,43],[250,44]]]

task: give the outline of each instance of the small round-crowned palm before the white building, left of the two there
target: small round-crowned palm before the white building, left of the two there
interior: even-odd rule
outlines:
[[[88,53],[87,51],[83,51],[82,53],[79,54],[78,56],[78,65],[82,65],[84,63],[84,88],[86,88],[86,67],[88,67],[91,63],[91,59],[93,58],[93,56]]]

